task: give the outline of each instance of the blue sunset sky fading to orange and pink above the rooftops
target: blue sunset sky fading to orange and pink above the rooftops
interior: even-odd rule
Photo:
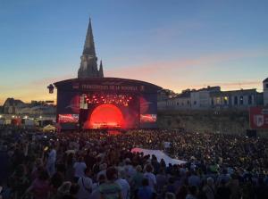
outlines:
[[[89,16],[105,77],[262,91],[267,11],[267,0],[0,0],[0,104],[55,100],[46,87],[77,77]]]

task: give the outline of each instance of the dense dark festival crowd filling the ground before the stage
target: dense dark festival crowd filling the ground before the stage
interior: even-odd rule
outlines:
[[[131,153],[134,147],[186,163]],[[45,135],[5,127],[0,183],[3,199],[268,198],[268,140],[159,129]]]

